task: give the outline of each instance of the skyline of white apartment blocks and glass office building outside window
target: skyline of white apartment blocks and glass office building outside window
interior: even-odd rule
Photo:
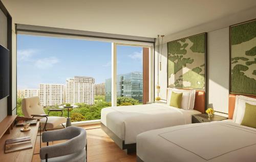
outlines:
[[[117,75],[117,97],[133,98],[142,102],[142,72]],[[104,83],[95,84],[93,77],[74,76],[66,78],[66,84],[40,83],[36,89],[17,89],[17,98],[38,96],[41,106],[55,106],[62,103],[86,103],[93,105],[96,95],[105,96],[111,102],[111,78]]]

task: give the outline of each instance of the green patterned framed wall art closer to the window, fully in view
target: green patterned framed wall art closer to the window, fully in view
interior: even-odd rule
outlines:
[[[167,85],[205,90],[207,33],[167,43]]]

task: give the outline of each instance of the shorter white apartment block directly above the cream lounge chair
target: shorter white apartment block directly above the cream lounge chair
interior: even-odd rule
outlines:
[[[39,98],[41,106],[55,106],[65,103],[65,86],[63,84],[40,84]]]

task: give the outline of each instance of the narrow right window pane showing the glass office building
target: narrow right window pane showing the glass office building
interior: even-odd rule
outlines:
[[[117,104],[141,104],[143,100],[142,47],[117,45]],[[121,103],[125,101],[124,103]]]

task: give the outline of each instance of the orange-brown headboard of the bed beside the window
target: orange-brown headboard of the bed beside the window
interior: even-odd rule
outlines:
[[[175,87],[175,88],[177,88],[177,87]],[[185,88],[177,88],[177,89],[188,90]],[[168,88],[167,88],[166,92],[168,93]],[[204,90],[196,90],[194,110],[198,110],[202,113],[205,113],[205,91]]]

